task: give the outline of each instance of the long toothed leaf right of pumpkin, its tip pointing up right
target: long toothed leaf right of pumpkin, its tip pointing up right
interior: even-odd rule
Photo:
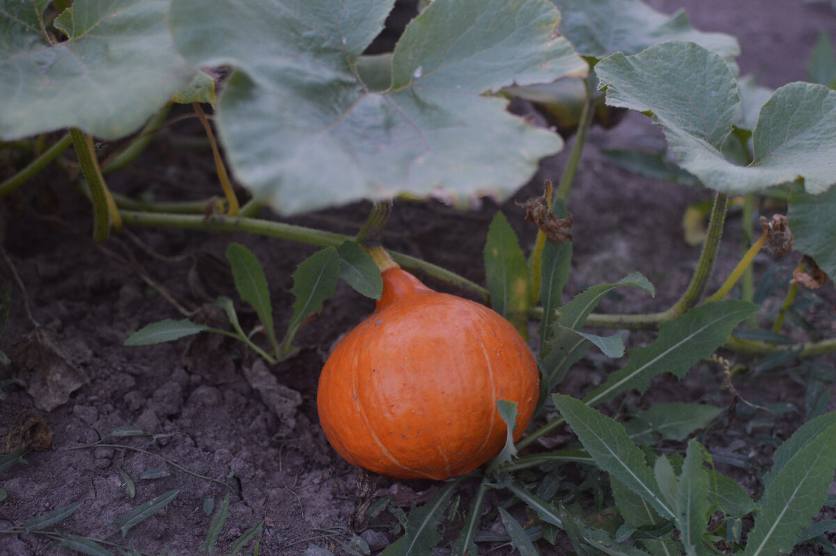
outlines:
[[[726,299],[704,304],[660,324],[659,336],[644,348],[630,349],[630,360],[584,400],[590,406],[612,400],[624,390],[645,391],[650,379],[661,372],[678,377],[696,361],[720,347],[737,324],[757,311],[755,304]]]

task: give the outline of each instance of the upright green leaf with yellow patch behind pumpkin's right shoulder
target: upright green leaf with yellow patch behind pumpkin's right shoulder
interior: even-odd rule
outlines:
[[[484,254],[491,308],[528,338],[528,264],[502,212],[497,212],[488,228]]]

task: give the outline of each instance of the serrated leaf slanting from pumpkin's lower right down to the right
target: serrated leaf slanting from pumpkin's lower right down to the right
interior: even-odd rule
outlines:
[[[630,441],[624,426],[568,395],[553,394],[552,399],[600,469],[644,498],[661,517],[675,517],[674,509],[661,497],[644,454]]]

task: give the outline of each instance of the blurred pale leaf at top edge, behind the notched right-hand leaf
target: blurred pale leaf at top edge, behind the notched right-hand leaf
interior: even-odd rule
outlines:
[[[584,56],[637,54],[667,40],[701,44],[721,53],[730,63],[740,54],[737,38],[726,33],[697,31],[683,11],[670,16],[641,0],[552,0],[552,3],[563,15],[560,32]]]

